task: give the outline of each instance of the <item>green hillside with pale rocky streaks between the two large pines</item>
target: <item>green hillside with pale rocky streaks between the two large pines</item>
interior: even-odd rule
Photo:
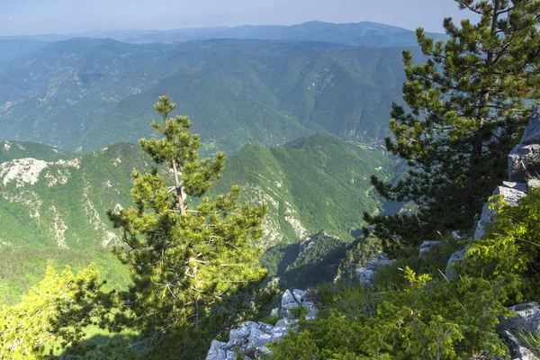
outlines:
[[[283,147],[248,145],[229,157],[213,191],[240,184],[247,200],[267,202],[267,245],[296,243],[320,229],[349,239],[365,225],[358,211],[382,207],[369,176],[393,171],[380,149],[315,134]]]

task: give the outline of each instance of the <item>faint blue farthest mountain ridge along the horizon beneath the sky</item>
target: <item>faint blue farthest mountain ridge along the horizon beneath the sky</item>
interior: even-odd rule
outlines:
[[[428,36],[443,39],[444,34],[428,33]],[[191,29],[116,30],[86,31],[73,35],[25,35],[11,37],[25,40],[67,40],[73,37],[111,38],[131,43],[176,43],[190,40],[211,39],[257,39],[257,40],[301,40],[337,42],[349,46],[368,45],[373,47],[416,46],[415,31],[383,23],[325,23],[311,21],[290,26],[285,25],[241,25],[234,27],[205,27]],[[1,40],[2,38],[0,38]]]

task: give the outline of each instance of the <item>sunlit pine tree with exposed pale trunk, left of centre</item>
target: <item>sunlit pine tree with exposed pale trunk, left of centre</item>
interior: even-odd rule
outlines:
[[[163,137],[139,142],[157,167],[147,174],[133,170],[136,206],[108,213],[123,231],[117,252],[133,280],[120,294],[129,316],[120,319],[119,313],[116,321],[147,338],[196,327],[220,302],[266,274],[257,266],[266,205],[238,204],[238,186],[215,201],[204,197],[220,178],[223,153],[200,159],[201,141],[189,119],[168,117],[175,103],[160,96],[154,107],[162,121],[152,127]]]

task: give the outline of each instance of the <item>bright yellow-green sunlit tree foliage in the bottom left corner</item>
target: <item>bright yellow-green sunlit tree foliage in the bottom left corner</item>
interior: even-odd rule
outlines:
[[[101,285],[93,264],[77,275],[47,267],[22,302],[0,311],[0,358],[40,359],[81,340],[98,315]]]

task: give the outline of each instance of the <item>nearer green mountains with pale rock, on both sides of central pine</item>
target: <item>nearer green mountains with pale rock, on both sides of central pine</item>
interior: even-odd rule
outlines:
[[[61,263],[58,257],[68,259],[66,254],[73,252],[75,265],[87,257],[86,262],[97,258],[112,268],[118,266],[110,254],[96,251],[118,243],[121,234],[112,229],[105,212],[132,203],[131,170],[145,171],[151,164],[137,145],[118,143],[81,156],[29,142],[3,141],[0,158],[1,251],[11,252],[14,258],[26,258],[30,251],[32,258],[39,259],[33,249],[41,248],[43,257],[57,259],[56,263]],[[223,177],[210,195],[239,184],[244,201],[268,203],[261,244],[273,249],[265,261],[277,275],[300,255],[300,244],[311,241],[320,229],[338,236],[340,245],[350,242],[351,233],[365,225],[358,209],[372,213],[383,209],[369,175],[391,178],[396,169],[394,160],[379,148],[314,134],[282,147],[247,145],[228,157]],[[305,251],[302,254],[305,257]],[[12,284],[11,275],[20,274],[21,266],[35,267],[20,262],[23,265],[9,261],[0,266],[0,277]],[[12,289],[9,299],[25,290]]]

